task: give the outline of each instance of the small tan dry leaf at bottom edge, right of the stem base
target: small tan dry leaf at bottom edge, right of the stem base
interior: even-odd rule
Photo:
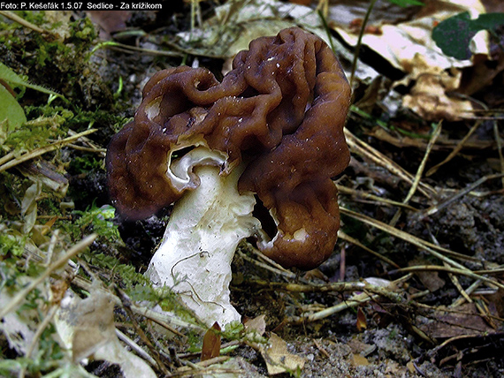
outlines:
[[[289,353],[286,342],[274,333],[271,333],[270,343],[262,348],[261,354],[271,375],[301,370],[306,362],[303,357]]]

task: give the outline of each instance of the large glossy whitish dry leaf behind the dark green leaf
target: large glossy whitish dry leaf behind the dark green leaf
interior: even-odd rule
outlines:
[[[346,4],[345,4],[346,3]],[[384,57],[394,67],[404,72],[410,72],[416,55],[424,57],[431,66],[439,66],[442,70],[450,67],[469,66],[470,61],[459,61],[447,57],[432,40],[432,27],[443,19],[447,19],[462,11],[469,11],[477,17],[485,12],[485,7],[478,0],[451,0],[430,2],[431,6],[403,8],[388,2],[380,2],[384,7],[380,12],[378,5],[372,11],[381,34],[364,34],[363,45],[374,49],[380,57]],[[358,39],[358,29],[352,28],[351,21],[362,18],[369,7],[369,1],[346,0],[337,2],[330,7],[330,18],[337,25],[336,30],[350,45],[355,46]],[[349,21],[350,20],[350,21]],[[486,54],[488,47],[485,34],[477,34],[473,40],[473,52]]]

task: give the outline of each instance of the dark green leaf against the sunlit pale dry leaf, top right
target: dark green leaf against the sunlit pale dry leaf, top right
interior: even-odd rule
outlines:
[[[470,40],[477,32],[491,30],[500,25],[504,25],[504,13],[485,13],[480,14],[477,19],[470,19],[469,12],[465,11],[434,27],[432,39],[447,56],[460,60],[469,59]]]

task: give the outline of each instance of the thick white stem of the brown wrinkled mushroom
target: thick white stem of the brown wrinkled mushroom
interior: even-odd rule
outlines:
[[[202,159],[205,154],[207,158]],[[179,293],[182,302],[209,327],[218,321],[225,328],[231,321],[241,320],[230,302],[233,254],[240,240],[260,226],[252,216],[254,195],[238,193],[242,167],[228,176],[219,175],[215,165],[194,167],[216,162],[209,158],[212,154],[208,148],[198,147],[171,164],[169,176],[174,174],[183,182],[195,173],[200,185],[175,203],[147,274],[154,284]]]

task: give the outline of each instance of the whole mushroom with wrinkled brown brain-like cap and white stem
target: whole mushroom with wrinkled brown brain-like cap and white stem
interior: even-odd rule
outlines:
[[[347,167],[350,87],[332,50],[292,27],[250,42],[222,82],[204,68],[157,72],[134,121],[112,140],[108,183],[120,214],[175,202],[149,265],[202,321],[240,320],[231,260],[242,238],[286,268],[316,268],[340,226],[332,177]],[[277,230],[252,215],[256,198]]]

